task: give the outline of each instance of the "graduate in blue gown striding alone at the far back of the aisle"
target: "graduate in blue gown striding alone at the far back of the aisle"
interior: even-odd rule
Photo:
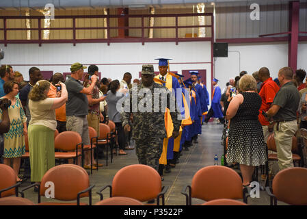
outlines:
[[[209,122],[209,119],[211,117],[213,118],[219,118],[219,123],[224,124],[224,115],[222,112],[222,105],[220,103],[221,101],[221,88],[217,85],[218,80],[213,79],[213,92],[212,92],[212,101],[211,101],[211,108],[206,115],[206,119],[204,120],[205,123]]]

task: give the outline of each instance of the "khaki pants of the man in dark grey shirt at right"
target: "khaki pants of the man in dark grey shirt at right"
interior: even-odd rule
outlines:
[[[277,127],[278,125],[278,127]],[[274,125],[279,170],[293,167],[292,138],[297,131],[297,121],[280,122]]]

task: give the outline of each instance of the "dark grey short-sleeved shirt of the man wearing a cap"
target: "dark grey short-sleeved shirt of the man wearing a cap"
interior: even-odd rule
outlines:
[[[81,93],[83,89],[80,81],[71,76],[65,81],[68,92],[68,101],[66,102],[66,116],[86,116],[88,115],[88,97]]]

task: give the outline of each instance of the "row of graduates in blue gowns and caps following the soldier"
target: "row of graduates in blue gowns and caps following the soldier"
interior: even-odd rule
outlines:
[[[198,71],[190,71],[191,78],[183,81],[183,75],[171,73],[169,71],[168,59],[159,59],[160,74],[155,77],[155,83],[159,83],[170,91],[182,91],[182,98],[176,99],[182,103],[177,103],[181,107],[181,116],[184,118],[181,122],[179,136],[172,138],[172,118],[169,109],[165,112],[165,129],[168,133],[168,138],[163,140],[163,151],[159,159],[159,174],[163,180],[163,172],[171,172],[170,166],[176,166],[181,151],[192,145],[192,142],[197,143],[198,136],[202,133],[202,122],[208,112],[209,93],[204,84],[200,83]],[[189,89],[189,91],[187,90]],[[177,94],[178,95],[178,94]],[[185,96],[189,95],[189,97]],[[176,95],[175,95],[176,96]],[[190,107],[188,107],[188,103]]]

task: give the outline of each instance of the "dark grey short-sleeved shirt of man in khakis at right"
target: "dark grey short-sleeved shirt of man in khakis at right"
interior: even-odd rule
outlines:
[[[280,106],[274,120],[296,120],[296,112],[299,106],[299,92],[292,81],[285,83],[276,94],[273,105]]]

